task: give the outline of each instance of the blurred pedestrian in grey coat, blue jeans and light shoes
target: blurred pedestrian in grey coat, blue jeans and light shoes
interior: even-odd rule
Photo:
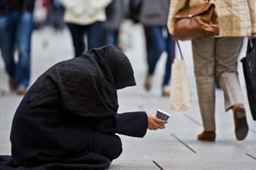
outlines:
[[[171,79],[171,61],[174,57],[174,40],[167,30],[167,20],[170,0],[143,0],[140,12],[146,36],[146,55],[148,71],[144,87],[150,90],[153,75],[163,52],[166,52],[164,76],[162,79],[162,96],[170,96],[169,83]]]

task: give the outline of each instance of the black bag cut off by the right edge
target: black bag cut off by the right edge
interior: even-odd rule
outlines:
[[[246,55],[241,61],[251,115],[256,121],[256,39],[248,39]]]

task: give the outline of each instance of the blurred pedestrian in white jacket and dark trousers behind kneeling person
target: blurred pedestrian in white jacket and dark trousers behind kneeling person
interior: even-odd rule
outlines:
[[[105,44],[103,22],[106,20],[106,8],[111,0],[60,1],[65,8],[64,21],[72,36],[75,57],[80,56],[85,49],[103,46]]]

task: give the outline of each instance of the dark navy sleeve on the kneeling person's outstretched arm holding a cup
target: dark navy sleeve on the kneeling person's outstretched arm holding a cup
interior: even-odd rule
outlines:
[[[130,137],[144,137],[147,128],[146,112],[115,113],[98,124],[98,131],[102,133],[117,133]]]

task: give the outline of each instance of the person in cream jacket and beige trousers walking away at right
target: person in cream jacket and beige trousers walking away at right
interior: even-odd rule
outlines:
[[[238,80],[238,55],[245,36],[256,33],[256,1],[254,0],[212,0],[219,16],[219,36],[206,39],[192,39],[194,73],[197,82],[197,96],[203,119],[203,132],[198,140],[216,139],[215,123],[215,80],[225,97],[226,111],[232,109],[235,122],[235,137],[244,140],[248,124],[241,85]],[[169,30],[174,30],[174,14],[187,1],[171,0]],[[190,0],[189,6],[206,3],[205,0]],[[218,110],[219,112],[219,110]]]

